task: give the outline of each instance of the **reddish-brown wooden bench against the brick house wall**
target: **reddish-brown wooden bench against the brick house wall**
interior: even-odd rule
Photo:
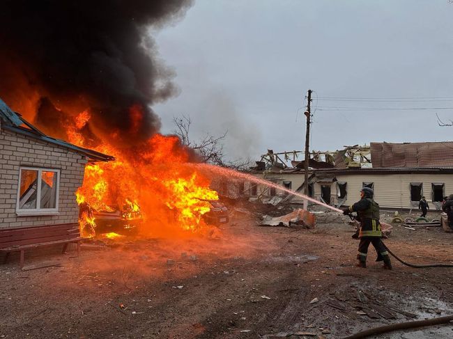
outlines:
[[[68,244],[77,242],[77,256],[80,253],[79,225],[63,223],[59,225],[29,226],[0,229],[0,252],[5,253],[3,264],[6,264],[11,252],[20,251],[20,267],[24,267],[24,251],[40,246],[63,244],[65,253]]]

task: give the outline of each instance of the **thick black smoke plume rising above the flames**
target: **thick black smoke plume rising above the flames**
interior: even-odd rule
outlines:
[[[89,127],[117,145],[160,129],[150,106],[177,93],[150,29],[182,17],[192,0],[3,0],[0,97],[61,136],[89,109]],[[60,129],[60,130],[59,130]]]

